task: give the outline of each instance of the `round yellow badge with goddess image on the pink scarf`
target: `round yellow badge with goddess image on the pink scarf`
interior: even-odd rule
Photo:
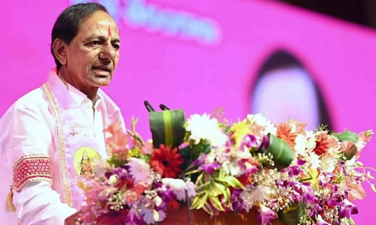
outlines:
[[[91,147],[80,147],[74,153],[74,169],[77,174],[83,178],[89,178],[93,175],[92,160],[99,159],[98,153]]]

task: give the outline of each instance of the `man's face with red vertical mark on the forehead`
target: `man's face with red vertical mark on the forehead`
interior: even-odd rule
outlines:
[[[67,71],[74,83],[85,87],[106,86],[119,61],[119,30],[110,15],[97,11],[79,28],[67,46]]]

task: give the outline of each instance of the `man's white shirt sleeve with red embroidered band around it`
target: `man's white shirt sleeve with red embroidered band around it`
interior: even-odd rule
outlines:
[[[13,203],[18,221],[22,225],[64,225],[65,218],[76,210],[63,204],[51,187],[54,121],[47,102],[38,97],[26,95],[8,110],[11,116],[8,116],[6,137],[2,138],[2,152],[15,165]],[[41,159],[44,161],[38,162]],[[47,169],[39,173],[30,171],[27,165],[33,162],[41,168],[49,166],[48,172]]]

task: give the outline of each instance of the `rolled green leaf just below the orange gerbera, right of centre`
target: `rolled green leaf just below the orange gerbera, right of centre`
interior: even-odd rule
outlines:
[[[291,164],[294,159],[294,151],[286,144],[286,142],[277,138],[272,134],[269,136],[269,147],[265,153],[273,155],[274,168],[281,170]]]

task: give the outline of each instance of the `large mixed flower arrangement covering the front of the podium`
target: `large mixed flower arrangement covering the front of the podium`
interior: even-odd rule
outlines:
[[[80,183],[83,224],[154,224],[187,205],[213,217],[256,209],[262,225],[350,225],[362,183],[376,192],[366,171],[373,168],[359,161],[371,130],[312,131],[262,114],[230,123],[223,111],[185,121],[176,110],[151,112],[153,140],[144,141],[136,122],[126,133],[120,123],[105,130],[113,155]]]

